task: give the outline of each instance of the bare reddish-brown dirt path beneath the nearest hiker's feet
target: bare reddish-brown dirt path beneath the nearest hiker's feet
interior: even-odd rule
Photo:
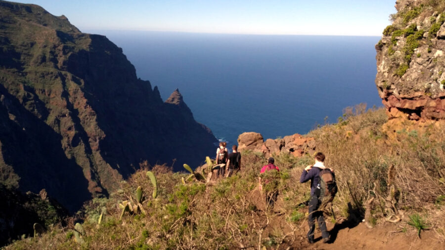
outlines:
[[[250,198],[257,201],[257,207],[260,209],[257,220],[265,223],[267,217],[261,212],[264,209],[264,202],[260,202],[265,197],[257,189],[252,192]],[[282,201],[279,199],[275,204],[275,211],[279,211],[280,202]],[[315,229],[315,243],[310,244],[306,238],[306,233],[309,230],[307,219],[296,225],[297,229],[292,232],[285,214],[277,212],[269,216],[269,223],[263,231],[263,236],[267,237],[268,233],[276,228],[282,229],[288,236],[278,247],[280,250],[445,250],[443,239],[440,239],[434,230],[422,231],[421,238],[419,238],[417,231],[402,221],[378,224],[371,229],[367,228],[364,222],[358,223],[354,220],[344,220],[336,224],[327,220],[326,225],[330,233],[330,242],[323,243],[321,232],[319,229]]]

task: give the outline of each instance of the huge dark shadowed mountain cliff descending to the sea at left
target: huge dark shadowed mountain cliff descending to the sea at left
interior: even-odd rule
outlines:
[[[71,211],[139,163],[198,165],[217,140],[167,102],[122,49],[32,4],[0,1],[0,181]]]

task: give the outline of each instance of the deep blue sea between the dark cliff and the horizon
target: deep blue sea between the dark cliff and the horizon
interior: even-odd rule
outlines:
[[[382,106],[377,36],[87,32],[121,47],[164,100],[179,88],[195,119],[228,146],[243,132],[306,134],[345,107]]]

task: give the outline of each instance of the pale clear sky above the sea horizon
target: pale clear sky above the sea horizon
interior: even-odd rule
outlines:
[[[83,30],[381,36],[396,0],[18,0]]]

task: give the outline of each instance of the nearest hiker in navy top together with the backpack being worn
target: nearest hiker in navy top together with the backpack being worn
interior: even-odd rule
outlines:
[[[314,243],[315,219],[318,221],[323,242],[329,242],[329,232],[326,228],[323,211],[320,208],[325,206],[327,202],[331,202],[337,192],[334,173],[332,169],[324,166],[324,154],[318,152],[314,158],[315,164],[307,166],[300,177],[301,183],[311,180],[311,200],[309,201],[308,217],[308,242],[311,244]]]

